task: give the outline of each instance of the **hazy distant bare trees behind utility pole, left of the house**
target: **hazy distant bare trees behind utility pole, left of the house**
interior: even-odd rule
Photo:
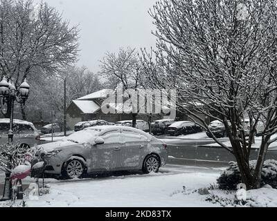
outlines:
[[[48,76],[31,81],[33,88],[26,105],[28,119],[48,121],[51,111],[54,111],[57,120],[62,123],[64,77],[66,77],[66,106],[69,106],[73,99],[101,90],[103,87],[98,75],[86,67],[68,67],[59,73],[60,77]]]

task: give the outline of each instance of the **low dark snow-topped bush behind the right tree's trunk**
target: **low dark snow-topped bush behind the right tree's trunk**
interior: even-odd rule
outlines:
[[[256,166],[256,160],[251,160],[249,166],[253,171]],[[220,189],[236,190],[237,185],[242,182],[240,170],[236,162],[229,162],[229,167],[217,179],[217,184]],[[261,185],[269,184],[277,189],[277,161],[266,160],[262,166],[262,183]]]

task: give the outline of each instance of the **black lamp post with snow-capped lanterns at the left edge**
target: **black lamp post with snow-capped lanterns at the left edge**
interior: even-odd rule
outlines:
[[[13,131],[12,131],[12,121],[13,121],[13,108],[15,101],[19,104],[24,104],[28,99],[30,86],[28,85],[26,79],[19,86],[19,88],[15,88],[15,84],[10,80],[7,81],[4,76],[2,81],[0,81],[0,102],[1,107],[3,104],[7,105],[7,111],[10,111],[10,128],[8,131],[8,144],[12,145],[13,140]],[[12,195],[12,184],[10,182],[10,169],[11,169],[11,155],[9,155],[9,163],[8,163],[8,171],[6,171],[5,185],[3,191],[3,198],[0,201],[11,200]]]

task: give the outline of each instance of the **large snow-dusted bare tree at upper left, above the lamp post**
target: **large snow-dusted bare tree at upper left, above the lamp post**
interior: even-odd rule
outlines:
[[[55,73],[76,61],[78,29],[59,12],[32,0],[0,1],[0,70],[16,88],[26,77]],[[6,117],[10,116],[10,107]]]

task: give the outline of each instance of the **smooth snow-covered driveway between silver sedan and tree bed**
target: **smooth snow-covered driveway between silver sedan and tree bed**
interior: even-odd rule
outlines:
[[[51,193],[27,206],[219,206],[206,202],[204,195],[182,193],[215,183],[219,173],[151,173],[139,177],[122,176],[107,180],[51,183]]]

